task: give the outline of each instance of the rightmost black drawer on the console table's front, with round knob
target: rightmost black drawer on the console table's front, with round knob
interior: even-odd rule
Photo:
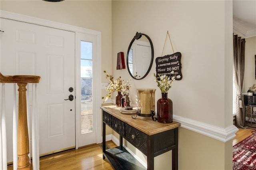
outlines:
[[[147,135],[140,130],[131,127],[130,125],[125,125],[125,138],[138,148],[142,153],[147,155]]]

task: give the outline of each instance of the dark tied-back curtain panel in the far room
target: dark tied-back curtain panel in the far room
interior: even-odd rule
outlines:
[[[236,125],[245,128],[244,102],[242,102],[242,108],[239,107],[239,100],[242,100],[241,95],[244,81],[245,39],[241,39],[237,35],[233,36],[233,50],[233,75],[236,87]]]

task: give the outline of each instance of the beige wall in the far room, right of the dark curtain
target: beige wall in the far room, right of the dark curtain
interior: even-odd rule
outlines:
[[[245,40],[245,70],[242,93],[247,93],[249,87],[251,87],[253,84],[256,84],[254,58],[254,56],[256,55],[256,36],[246,38]]]

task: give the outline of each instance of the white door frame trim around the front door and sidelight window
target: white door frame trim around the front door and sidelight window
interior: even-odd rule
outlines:
[[[5,19],[10,19],[10,20],[16,20],[16,21],[20,21],[20,22],[26,22],[26,23],[30,23],[30,24],[36,24],[36,25],[40,25],[40,26],[46,26],[46,27],[51,27],[51,28],[56,28],[56,29],[60,29],[60,30],[66,30],[66,31],[70,31],[70,32],[75,32],[75,33],[82,33],[82,34],[91,34],[96,36],[96,60],[97,63],[100,63],[100,67],[97,68],[98,71],[98,76],[94,77],[96,79],[96,84],[94,84],[94,88],[97,89],[96,90],[96,94],[94,94],[94,96],[101,96],[100,92],[101,92],[101,32],[98,31],[94,31],[94,30],[89,30],[86,28],[81,28],[81,27],[77,27],[77,26],[72,26],[72,25],[68,25],[68,24],[62,24],[59,22],[53,22],[50,20],[44,20],[41,18],[35,18],[32,16],[26,16],[26,15],[22,15],[22,14],[16,14],[16,13],[12,13],[12,12],[7,12],[7,11],[3,11],[0,10],[0,17],[1,18],[5,18]],[[76,40],[75,40],[76,41]],[[80,51],[75,51],[75,55],[77,53],[80,53]],[[78,72],[80,72],[80,65],[77,65],[78,60],[80,61],[80,57],[78,58],[78,56],[75,56],[75,83],[76,83],[76,89],[78,89],[78,83],[80,83],[80,77],[78,77]],[[76,90],[76,96],[79,96],[80,94],[78,94],[78,90]],[[95,114],[97,115],[97,122],[96,122],[96,141],[97,144],[102,142],[102,116],[101,114],[101,97],[95,97],[96,99],[94,100],[94,102],[96,103],[96,107],[95,107]],[[94,103],[94,105],[95,105]],[[80,127],[78,127],[79,123],[78,123],[78,117],[80,116],[80,113],[78,113],[78,111],[80,110],[80,108],[78,108],[78,102],[76,102],[76,149],[78,148],[78,133],[80,133]]]

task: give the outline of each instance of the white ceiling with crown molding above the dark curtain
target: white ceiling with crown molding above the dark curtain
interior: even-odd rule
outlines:
[[[233,0],[233,32],[243,38],[256,36],[256,0]]]

